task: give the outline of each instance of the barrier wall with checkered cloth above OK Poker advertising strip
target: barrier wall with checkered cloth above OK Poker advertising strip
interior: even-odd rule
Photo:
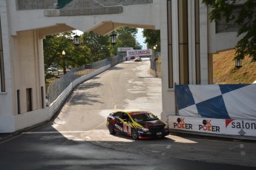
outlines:
[[[175,96],[171,130],[256,137],[256,84],[177,85]]]

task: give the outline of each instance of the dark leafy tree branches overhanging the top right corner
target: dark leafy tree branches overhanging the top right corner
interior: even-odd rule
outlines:
[[[235,3],[235,0],[203,0],[203,4],[211,7],[210,21],[220,21],[225,18],[226,23],[233,21],[234,24],[240,25],[237,36],[243,35],[243,38],[237,42],[234,59],[243,59],[249,55],[252,57],[252,61],[256,61],[256,1],[245,1],[240,6],[238,16],[234,16],[237,6]]]

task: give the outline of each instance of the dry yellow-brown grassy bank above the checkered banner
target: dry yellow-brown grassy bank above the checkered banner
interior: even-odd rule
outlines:
[[[256,81],[256,61],[248,56],[243,59],[242,67],[234,67],[234,50],[220,52],[213,56],[214,84],[252,84]]]

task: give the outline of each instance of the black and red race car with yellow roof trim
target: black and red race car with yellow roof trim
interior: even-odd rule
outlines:
[[[169,135],[167,124],[144,109],[124,109],[110,113],[107,128],[111,135],[118,132],[134,140]]]

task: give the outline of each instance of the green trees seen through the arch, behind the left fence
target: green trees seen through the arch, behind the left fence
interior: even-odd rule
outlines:
[[[65,57],[66,67],[81,67],[82,65],[109,58],[116,55],[117,47],[134,47],[141,49],[136,41],[137,28],[120,27],[116,30],[117,44],[111,45],[109,35],[98,35],[93,32],[81,35],[81,44],[78,47],[73,45],[73,32],[47,35],[43,40],[45,71],[48,67],[63,68]],[[65,50],[65,56],[62,51]]]

